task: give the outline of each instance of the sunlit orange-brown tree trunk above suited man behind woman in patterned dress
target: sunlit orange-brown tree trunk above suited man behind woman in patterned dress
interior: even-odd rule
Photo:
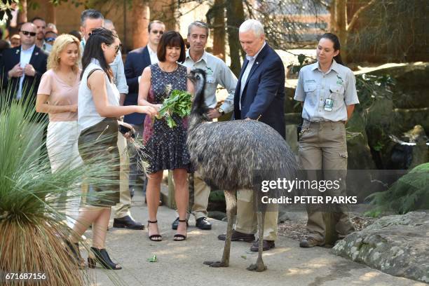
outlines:
[[[149,1],[132,1],[132,48],[140,48],[147,45],[149,34]]]

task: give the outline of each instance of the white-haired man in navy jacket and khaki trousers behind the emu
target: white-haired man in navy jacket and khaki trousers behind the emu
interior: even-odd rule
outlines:
[[[285,138],[285,67],[282,60],[266,43],[264,27],[259,21],[243,22],[239,38],[246,52],[246,60],[234,95],[233,118],[264,122]],[[236,229],[232,240],[254,240],[257,215],[253,200],[253,191],[238,190]],[[264,250],[274,247],[277,219],[278,212],[266,212]],[[224,238],[224,235],[219,236],[221,240]],[[258,243],[255,242],[250,250],[258,251]]]

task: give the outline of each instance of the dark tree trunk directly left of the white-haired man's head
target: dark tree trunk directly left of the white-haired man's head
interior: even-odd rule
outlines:
[[[226,1],[226,17],[228,18],[228,42],[229,55],[231,57],[231,71],[238,77],[240,75],[240,41],[238,38],[238,27],[244,22],[243,1]]]

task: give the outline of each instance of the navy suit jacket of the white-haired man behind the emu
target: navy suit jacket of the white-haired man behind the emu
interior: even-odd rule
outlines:
[[[268,43],[262,48],[247,76],[240,111],[241,78],[248,62],[243,63],[238,78],[233,118],[259,118],[285,138],[285,67],[282,60]]]

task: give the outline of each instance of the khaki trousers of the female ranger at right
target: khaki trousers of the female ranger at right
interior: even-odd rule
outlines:
[[[304,170],[339,170],[341,175],[347,170],[346,127],[343,121],[304,121],[299,135],[299,162]],[[342,170],[342,171],[341,171]],[[323,179],[330,179],[335,172],[326,171]],[[338,173],[337,173],[338,174]],[[308,172],[308,180],[317,179],[315,172]],[[338,179],[338,178],[336,178]],[[342,179],[345,182],[345,177]],[[345,191],[345,185],[340,192]],[[335,196],[340,193],[334,193]],[[313,212],[307,208],[307,229],[310,238],[325,242],[326,226],[323,212]],[[353,232],[353,224],[346,212],[335,212],[336,232],[340,237]]]

